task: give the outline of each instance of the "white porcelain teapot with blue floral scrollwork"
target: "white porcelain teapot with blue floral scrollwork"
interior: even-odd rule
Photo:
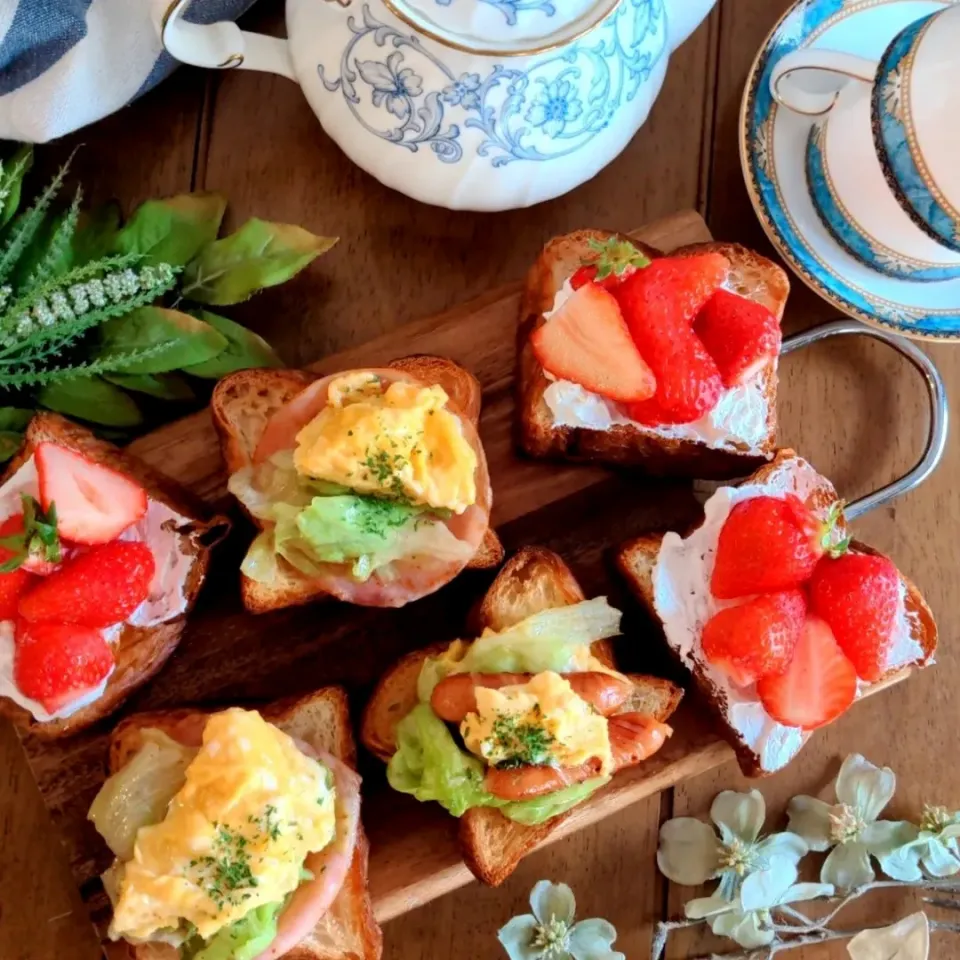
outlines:
[[[469,210],[539,203],[606,166],[715,2],[287,0],[278,40],[156,0],[178,60],[289,77],[368,173]]]

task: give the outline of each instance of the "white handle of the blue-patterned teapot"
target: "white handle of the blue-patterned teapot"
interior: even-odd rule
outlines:
[[[188,23],[182,15],[191,0],[173,0],[163,9],[155,2],[155,26],[160,42],[181,63],[214,70],[261,70],[296,82],[286,40],[241,30],[235,23]]]

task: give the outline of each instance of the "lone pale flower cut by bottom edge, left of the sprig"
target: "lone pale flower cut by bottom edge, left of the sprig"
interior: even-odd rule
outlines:
[[[565,883],[541,880],[530,892],[533,914],[514,917],[497,937],[510,960],[626,960],[606,920],[574,923],[577,903]]]

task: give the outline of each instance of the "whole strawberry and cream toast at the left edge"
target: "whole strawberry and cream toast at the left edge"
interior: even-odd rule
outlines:
[[[38,414],[0,483],[0,713],[41,737],[106,716],[173,653],[226,521]]]

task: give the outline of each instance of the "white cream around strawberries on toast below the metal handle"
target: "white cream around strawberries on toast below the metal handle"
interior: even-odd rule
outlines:
[[[810,733],[778,723],[764,710],[755,685],[737,686],[724,671],[713,667],[703,656],[700,637],[704,625],[718,611],[743,602],[742,599],[718,600],[710,592],[717,542],[720,530],[736,504],[753,497],[784,497],[788,493],[807,501],[818,488],[830,492],[835,498],[833,488],[824,487],[824,483],[809,463],[797,457],[785,461],[763,483],[721,487],[704,504],[703,524],[690,536],[681,537],[678,533],[664,536],[653,571],[654,606],[663,621],[667,642],[689,670],[698,667],[714,685],[730,726],[758,755],[761,768],[767,772],[779,770],[789,763],[809,739]],[[807,505],[825,519],[830,503]],[[923,656],[922,646],[913,639],[911,622],[915,614],[907,610],[906,595],[906,584],[901,578],[887,670],[913,663]],[[858,697],[861,691],[862,687],[858,685]]]

